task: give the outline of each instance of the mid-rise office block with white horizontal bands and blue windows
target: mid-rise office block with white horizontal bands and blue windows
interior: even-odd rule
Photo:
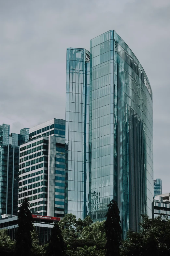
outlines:
[[[64,161],[65,120],[30,129],[20,147],[19,207],[27,196],[32,213],[64,217]]]

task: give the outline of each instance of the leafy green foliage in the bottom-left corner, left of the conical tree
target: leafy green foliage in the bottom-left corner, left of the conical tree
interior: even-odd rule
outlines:
[[[13,255],[15,243],[7,234],[7,229],[0,230],[0,252],[2,255]]]

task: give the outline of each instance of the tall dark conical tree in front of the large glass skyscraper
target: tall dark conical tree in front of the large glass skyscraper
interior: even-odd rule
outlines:
[[[106,256],[119,256],[122,230],[120,226],[119,208],[115,200],[111,200],[105,221]]]

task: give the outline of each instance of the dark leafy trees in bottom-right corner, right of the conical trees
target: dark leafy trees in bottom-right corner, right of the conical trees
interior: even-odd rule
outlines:
[[[170,220],[163,220],[161,216],[149,219],[147,215],[142,215],[140,226],[140,233],[128,231],[122,256],[170,255]]]

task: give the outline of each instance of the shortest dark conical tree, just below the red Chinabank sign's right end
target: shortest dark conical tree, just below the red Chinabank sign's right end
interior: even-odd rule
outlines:
[[[64,256],[64,240],[62,236],[61,229],[57,223],[54,224],[54,227],[51,230],[51,237],[49,241],[49,246],[47,247],[47,256]]]

